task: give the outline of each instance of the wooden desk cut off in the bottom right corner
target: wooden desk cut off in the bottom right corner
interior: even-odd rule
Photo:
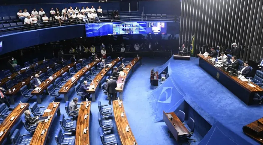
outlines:
[[[263,118],[260,118],[246,126],[243,126],[243,132],[254,140],[263,144]]]

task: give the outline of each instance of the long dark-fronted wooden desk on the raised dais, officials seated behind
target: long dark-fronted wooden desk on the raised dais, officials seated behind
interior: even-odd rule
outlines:
[[[249,86],[247,81],[239,80],[237,76],[231,76],[231,74],[223,68],[215,67],[214,64],[204,58],[203,55],[198,54],[198,56],[200,58],[199,66],[228,88],[228,90],[234,93],[240,100],[246,103],[246,105],[252,105],[255,93],[263,94],[263,89],[253,82],[251,82],[251,84],[255,87]]]

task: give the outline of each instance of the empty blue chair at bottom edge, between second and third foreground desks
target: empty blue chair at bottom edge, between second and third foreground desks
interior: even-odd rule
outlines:
[[[71,135],[71,132],[62,133],[61,128],[58,128],[56,134],[55,134],[55,140],[58,145],[74,145],[75,144],[75,136],[68,136],[65,137],[65,135]]]

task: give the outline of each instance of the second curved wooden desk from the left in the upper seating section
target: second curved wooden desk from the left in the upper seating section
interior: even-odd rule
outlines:
[[[18,84],[16,84],[14,87],[12,87],[10,90],[11,92],[9,93],[9,91],[7,91],[5,94],[6,96],[10,97],[10,102],[12,105],[15,104],[14,102],[14,95],[17,94],[18,92],[20,92],[20,88],[24,87],[25,85],[30,84],[30,81],[35,77],[35,74],[40,75],[41,73],[46,72],[48,69],[53,68],[55,65],[54,64],[50,64],[48,67],[44,67],[43,69],[41,69],[39,72],[33,73],[30,77],[25,78],[23,81],[20,81]],[[15,90],[14,90],[15,89]],[[14,90],[14,91],[12,91]],[[38,99],[38,103],[41,103],[41,99],[40,96],[37,96]]]

